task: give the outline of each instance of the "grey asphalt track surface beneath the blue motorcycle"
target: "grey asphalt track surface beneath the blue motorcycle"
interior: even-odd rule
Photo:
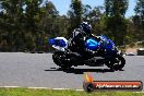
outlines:
[[[80,65],[62,70],[51,59],[51,53],[0,52],[0,86],[83,88],[84,72],[96,81],[144,82],[144,57],[125,56],[123,71],[107,67]]]

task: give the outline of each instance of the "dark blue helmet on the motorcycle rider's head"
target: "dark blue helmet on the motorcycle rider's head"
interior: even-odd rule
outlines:
[[[81,23],[80,28],[81,28],[82,31],[84,31],[86,34],[91,34],[92,26],[91,26],[91,24],[88,24],[87,22]]]

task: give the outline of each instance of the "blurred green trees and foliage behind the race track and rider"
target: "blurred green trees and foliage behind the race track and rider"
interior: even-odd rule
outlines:
[[[0,51],[50,51],[49,38],[69,38],[82,21],[117,46],[132,45],[144,40],[144,0],[135,3],[135,14],[125,17],[129,0],[105,0],[95,8],[71,0],[67,15],[48,0],[0,0]]]

